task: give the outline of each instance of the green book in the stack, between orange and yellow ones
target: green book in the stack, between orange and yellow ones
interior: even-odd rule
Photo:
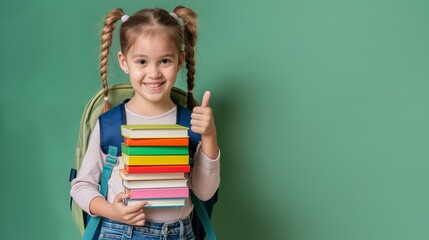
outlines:
[[[129,156],[137,155],[187,155],[187,146],[139,146],[130,147],[122,143],[122,152]]]

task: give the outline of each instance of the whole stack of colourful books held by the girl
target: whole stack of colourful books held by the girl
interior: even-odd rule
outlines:
[[[177,124],[122,125],[120,175],[125,204],[147,201],[146,207],[181,207],[189,196],[188,128]]]

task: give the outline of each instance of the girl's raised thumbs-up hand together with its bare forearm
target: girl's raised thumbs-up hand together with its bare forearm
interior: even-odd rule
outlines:
[[[201,106],[194,107],[191,114],[191,130],[201,134],[201,150],[211,158],[218,157],[216,125],[212,109],[209,107],[210,92],[206,91]]]

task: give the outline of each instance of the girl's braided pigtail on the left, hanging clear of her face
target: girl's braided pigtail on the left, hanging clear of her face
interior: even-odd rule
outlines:
[[[107,83],[107,62],[109,57],[110,46],[112,45],[113,31],[115,30],[115,23],[124,16],[124,11],[120,8],[114,9],[106,15],[104,21],[103,31],[101,33],[101,62],[100,62],[100,76],[103,83],[104,106],[103,111],[110,110],[109,102],[109,86]]]

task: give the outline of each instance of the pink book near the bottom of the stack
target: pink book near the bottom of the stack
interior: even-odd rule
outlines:
[[[189,189],[181,188],[141,188],[125,189],[125,193],[130,193],[130,199],[153,199],[153,198],[187,198]]]

